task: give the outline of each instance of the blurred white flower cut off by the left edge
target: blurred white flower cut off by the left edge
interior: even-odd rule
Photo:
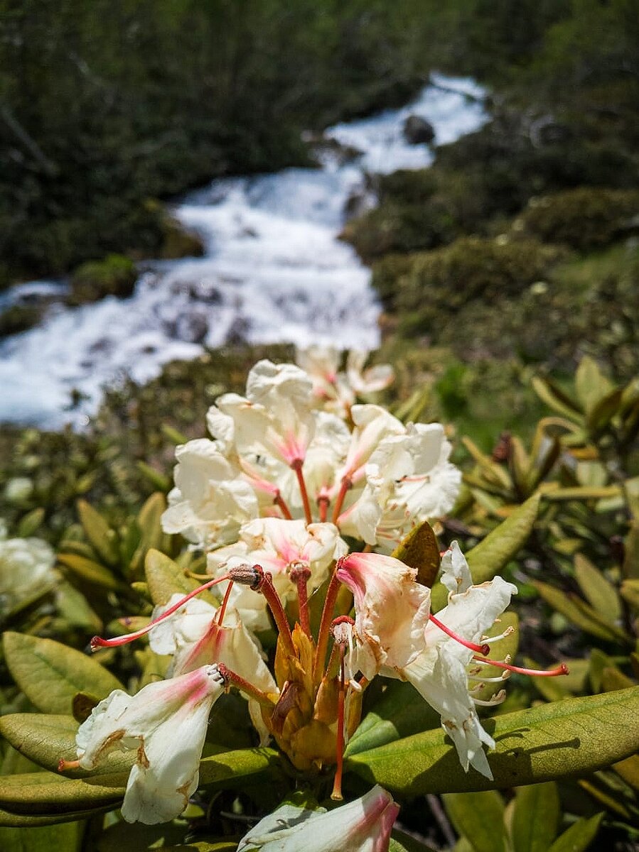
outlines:
[[[0,602],[9,611],[56,579],[55,553],[41,538],[5,538],[0,527]]]

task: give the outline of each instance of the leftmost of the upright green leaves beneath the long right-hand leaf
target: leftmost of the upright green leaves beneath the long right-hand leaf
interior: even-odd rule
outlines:
[[[498,792],[449,793],[442,798],[457,833],[473,852],[503,852],[503,799]]]

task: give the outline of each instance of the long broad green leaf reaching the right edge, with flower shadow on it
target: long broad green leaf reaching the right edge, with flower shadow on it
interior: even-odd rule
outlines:
[[[347,758],[369,783],[414,797],[500,789],[586,774],[639,749],[639,687],[539,705],[485,720],[497,743],[488,753],[494,780],[465,773],[441,729]]]

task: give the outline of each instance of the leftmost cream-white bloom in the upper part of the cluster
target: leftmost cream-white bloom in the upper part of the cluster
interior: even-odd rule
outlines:
[[[175,488],[162,515],[165,533],[195,544],[225,544],[259,514],[258,498],[212,440],[189,440],[176,449]]]

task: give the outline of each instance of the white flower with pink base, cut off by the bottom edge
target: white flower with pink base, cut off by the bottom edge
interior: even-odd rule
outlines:
[[[398,812],[379,785],[328,812],[282,805],[241,839],[237,852],[386,852]]]

